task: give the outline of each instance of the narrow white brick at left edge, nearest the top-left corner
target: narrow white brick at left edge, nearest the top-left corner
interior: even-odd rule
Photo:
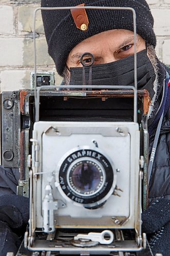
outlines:
[[[0,6],[0,34],[13,34],[13,8]]]

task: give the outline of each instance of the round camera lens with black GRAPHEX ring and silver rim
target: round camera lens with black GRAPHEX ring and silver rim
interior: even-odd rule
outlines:
[[[99,148],[79,146],[60,160],[56,184],[60,194],[86,208],[101,207],[112,195],[116,176],[113,163]]]

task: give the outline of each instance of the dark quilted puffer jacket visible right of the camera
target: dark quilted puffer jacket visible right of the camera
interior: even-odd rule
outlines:
[[[170,74],[168,69],[166,69],[166,71]],[[166,102],[166,105],[169,106],[170,102]],[[153,133],[149,139],[149,156],[152,152],[154,138],[155,134]],[[170,200],[170,108],[163,118],[156,148],[155,160],[149,183],[149,205],[161,198]]]

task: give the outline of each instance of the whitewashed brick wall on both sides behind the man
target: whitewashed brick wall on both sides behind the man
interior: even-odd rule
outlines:
[[[64,0],[62,0],[64,1]],[[170,65],[170,0],[148,0],[155,18],[157,55]],[[34,69],[33,10],[40,0],[1,0],[0,4],[0,90],[30,88],[30,71]],[[55,71],[47,54],[40,12],[37,15],[37,64],[40,71]],[[56,74],[56,83],[61,78]]]

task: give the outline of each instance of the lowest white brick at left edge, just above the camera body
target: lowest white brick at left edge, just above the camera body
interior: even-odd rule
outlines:
[[[26,77],[25,70],[6,70],[0,74],[1,79],[1,92],[15,91],[20,89],[27,89],[24,84]]]

